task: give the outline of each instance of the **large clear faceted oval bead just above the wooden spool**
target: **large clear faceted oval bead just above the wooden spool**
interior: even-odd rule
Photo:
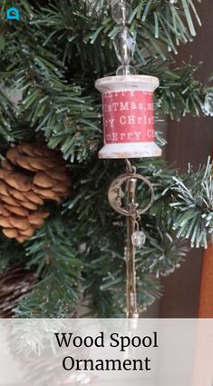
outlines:
[[[115,36],[113,45],[122,65],[129,65],[135,52],[135,40],[127,27],[121,28]]]

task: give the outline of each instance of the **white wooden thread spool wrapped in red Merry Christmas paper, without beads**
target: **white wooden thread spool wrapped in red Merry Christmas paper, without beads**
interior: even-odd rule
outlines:
[[[96,82],[102,92],[104,146],[99,158],[159,156],[154,143],[153,76],[109,76]]]

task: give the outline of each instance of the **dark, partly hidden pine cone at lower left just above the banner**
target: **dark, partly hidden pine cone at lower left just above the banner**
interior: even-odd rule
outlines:
[[[13,309],[27,292],[30,292],[38,278],[23,265],[11,267],[0,275],[0,318],[11,318]]]

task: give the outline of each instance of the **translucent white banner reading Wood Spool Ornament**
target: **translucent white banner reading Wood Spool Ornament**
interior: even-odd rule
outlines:
[[[0,385],[212,386],[213,320],[0,320]]]

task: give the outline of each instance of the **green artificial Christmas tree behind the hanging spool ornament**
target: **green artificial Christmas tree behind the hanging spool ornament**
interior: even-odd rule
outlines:
[[[194,25],[200,22],[195,5],[191,0],[131,1],[130,29],[137,41],[133,64],[138,74],[160,79],[155,94],[156,121],[160,114],[180,119],[206,111],[210,85],[196,79],[198,66],[176,68],[172,56],[179,44],[188,43],[196,34]],[[79,302],[92,315],[123,315],[125,230],[120,214],[113,213],[107,201],[109,184],[122,171],[122,163],[97,160],[102,122],[100,95],[94,87],[98,78],[111,75],[117,66],[112,41],[118,26],[111,18],[111,6],[95,1],[32,0],[20,3],[20,21],[6,21],[5,12],[4,3],[1,79],[9,93],[0,94],[2,169],[11,173],[6,168],[13,164],[16,173],[23,166],[26,173],[22,157],[31,154],[21,152],[20,158],[8,150],[14,144],[18,149],[23,144],[44,143],[61,152],[73,186],[64,203],[48,202],[44,212],[51,215],[31,238],[22,240],[22,245],[9,241],[10,257],[5,252],[8,239],[2,239],[2,270],[17,259],[18,251],[18,258],[41,278],[16,304],[15,315],[69,316]],[[21,94],[19,104],[11,101],[10,95],[16,92]],[[156,138],[158,145],[165,144],[159,133]],[[154,203],[143,216],[146,243],[136,255],[142,309],[160,295],[160,274],[173,272],[184,258],[185,239],[189,238],[192,246],[207,245],[213,230],[213,188],[209,164],[198,173],[189,170],[183,176],[154,158],[139,159],[136,166],[137,173],[146,175],[154,187]],[[34,164],[30,167],[34,169]],[[60,162],[53,168],[56,175],[61,174]],[[57,180],[53,174],[49,177]],[[2,182],[5,184],[5,176]],[[57,183],[61,185],[61,181]],[[52,188],[45,189],[53,193]],[[147,197],[142,191],[139,195],[143,206]],[[4,198],[1,193],[5,209],[8,203]]]

